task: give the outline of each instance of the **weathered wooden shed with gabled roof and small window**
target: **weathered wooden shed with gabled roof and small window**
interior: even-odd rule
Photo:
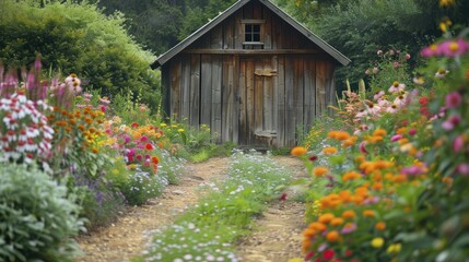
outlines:
[[[350,60],[268,0],[239,0],[157,58],[163,109],[218,142],[292,146]]]

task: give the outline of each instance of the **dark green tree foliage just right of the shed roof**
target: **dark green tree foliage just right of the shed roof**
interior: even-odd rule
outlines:
[[[420,46],[429,39],[409,24],[422,15],[413,0],[360,0],[331,8],[318,22],[318,34],[352,60],[338,72],[338,78],[343,81],[347,76],[355,83],[364,76],[378,49],[390,45],[408,47],[417,57]]]

